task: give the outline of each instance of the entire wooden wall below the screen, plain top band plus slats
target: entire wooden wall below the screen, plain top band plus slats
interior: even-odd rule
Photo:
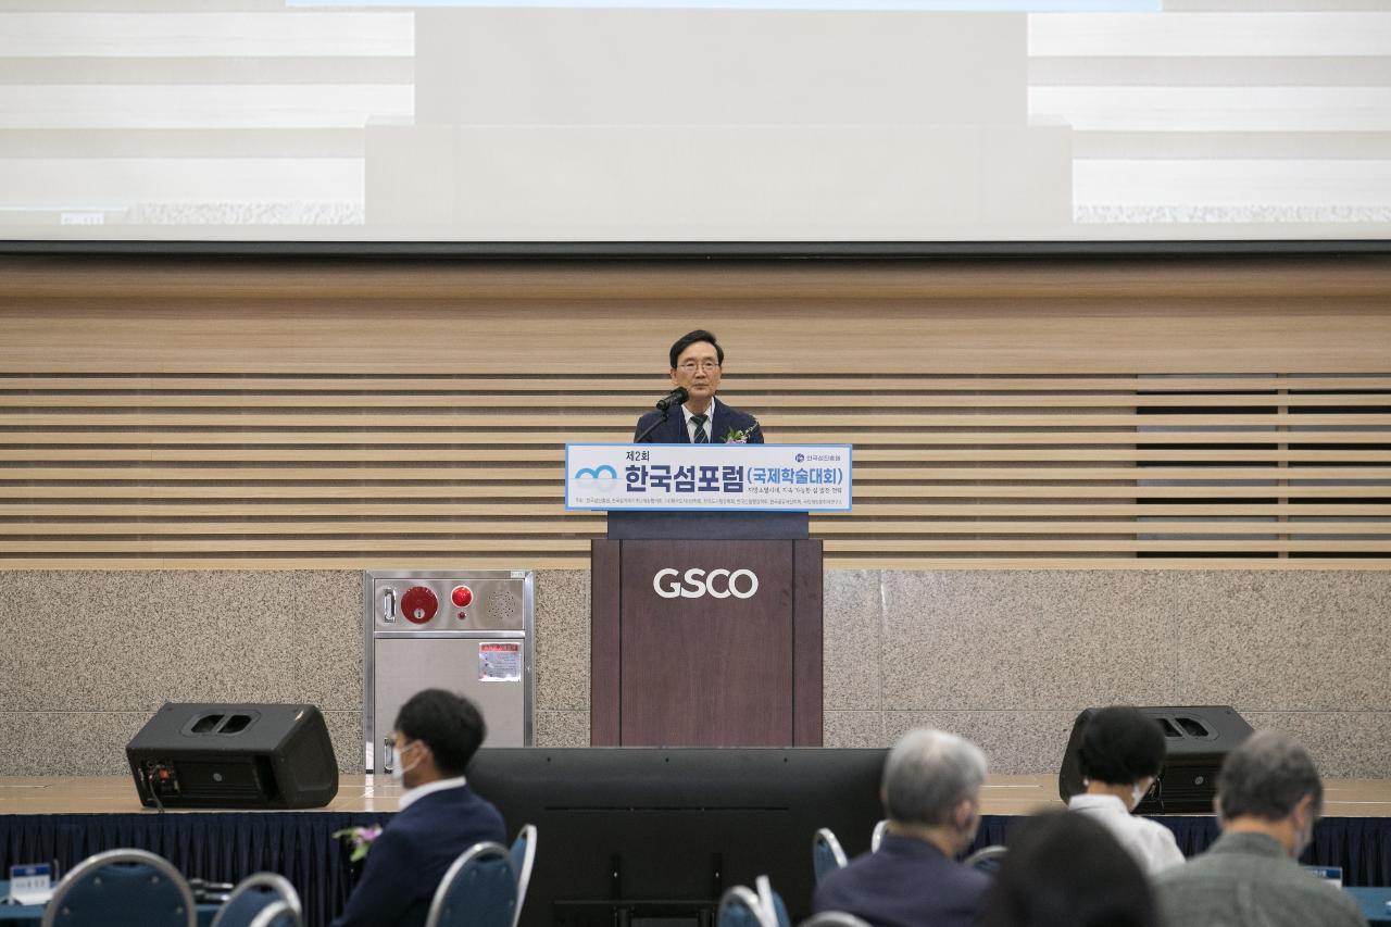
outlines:
[[[584,568],[696,324],[855,445],[830,566],[1391,566],[1385,259],[0,271],[0,569]]]

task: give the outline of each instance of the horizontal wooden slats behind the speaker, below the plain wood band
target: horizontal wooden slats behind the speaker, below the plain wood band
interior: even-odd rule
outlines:
[[[857,445],[833,564],[1391,565],[1391,374],[761,379],[730,401],[778,438]],[[565,512],[563,443],[662,388],[615,381],[3,377],[0,565],[583,566],[604,519]]]

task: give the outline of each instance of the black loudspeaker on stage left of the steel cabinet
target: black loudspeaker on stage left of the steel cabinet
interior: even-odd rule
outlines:
[[[125,746],[147,807],[321,807],[338,761],[312,704],[168,702]]]

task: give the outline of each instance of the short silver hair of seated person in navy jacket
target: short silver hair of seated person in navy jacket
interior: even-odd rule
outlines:
[[[939,827],[951,823],[961,802],[981,793],[985,753],[965,738],[915,728],[883,764],[883,805],[889,820]]]

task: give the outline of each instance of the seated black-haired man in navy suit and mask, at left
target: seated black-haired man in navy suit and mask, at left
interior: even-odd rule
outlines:
[[[396,715],[392,777],[401,811],[367,853],[362,880],[334,927],[423,927],[440,880],[466,849],[506,841],[498,809],[467,786],[463,768],[487,728],[472,702],[417,692]]]

